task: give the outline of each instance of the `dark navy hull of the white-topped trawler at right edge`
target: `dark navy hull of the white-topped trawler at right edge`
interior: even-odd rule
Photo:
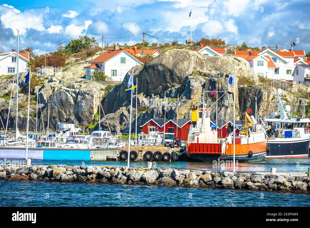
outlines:
[[[310,139],[294,141],[270,139],[267,142],[266,158],[308,158],[309,142]]]

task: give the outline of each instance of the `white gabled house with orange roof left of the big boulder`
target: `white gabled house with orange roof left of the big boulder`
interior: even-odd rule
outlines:
[[[102,70],[113,81],[123,81],[132,67],[143,64],[128,51],[119,49],[119,46],[114,46],[114,50],[105,51],[97,58],[89,61],[89,63],[91,65],[84,67],[86,79],[90,79],[93,71]]]

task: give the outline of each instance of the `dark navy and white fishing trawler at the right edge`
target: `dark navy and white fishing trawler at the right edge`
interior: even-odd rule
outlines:
[[[291,116],[290,105],[281,99],[283,95],[282,89],[277,89],[273,95],[277,99],[276,111],[264,117],[268,124],[266,158],[308,158],[310,132],[305,128],[310,119]]]

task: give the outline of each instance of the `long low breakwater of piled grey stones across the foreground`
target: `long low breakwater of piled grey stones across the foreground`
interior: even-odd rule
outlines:
[[[310,177],[121,166],[0,165],[0,179],[310,193]]]

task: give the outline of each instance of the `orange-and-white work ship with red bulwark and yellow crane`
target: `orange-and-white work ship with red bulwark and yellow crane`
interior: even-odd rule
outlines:
[[[210,108],[192,109],[192,125],[188,133],[185,158],[190,161],[212,162],[233,159],[233,134],[228,128],[226,138],[218,138],[216,126],[210,124]],[[235,160],[260,161],[266,156],[266,136],[263,125],[244,113],[243,125],[235,136]],[[232,127],[233,128],[233,127]]]

